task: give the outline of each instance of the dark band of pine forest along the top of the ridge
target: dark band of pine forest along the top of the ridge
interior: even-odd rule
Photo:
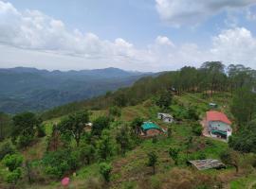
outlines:
[[[142,77],[132,87],[121,88],[115,93],[74,102],[57,107],[42,114],[44,119],[58,117],[84,108],[105,109],[109,106],[133,106],[163,91],[174,90],[176,94],[203,93],[212,95],[217,92],[254,90],[256,72],[243,65],[225,67],[221,62],[205,62],[200,68],[183,67],[179,71],[162,73],[158,77]]]

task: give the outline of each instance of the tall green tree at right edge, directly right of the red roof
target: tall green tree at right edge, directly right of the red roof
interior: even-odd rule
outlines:
[[[239,126],[246,125],[256,112],[256,94],[248,88],[238,89],[233,95],[230,109]]]

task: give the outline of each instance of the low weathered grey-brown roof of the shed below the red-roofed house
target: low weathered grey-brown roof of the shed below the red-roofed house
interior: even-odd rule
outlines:
[[[212,160],[212,159],[193,160],[193,161],[189,161],[188,163],[192,164],[198,170],[206,170],[210,168],[215,168],[215,169],[226,168],[226,165],[224,163],[220,162],[219,160]]]

